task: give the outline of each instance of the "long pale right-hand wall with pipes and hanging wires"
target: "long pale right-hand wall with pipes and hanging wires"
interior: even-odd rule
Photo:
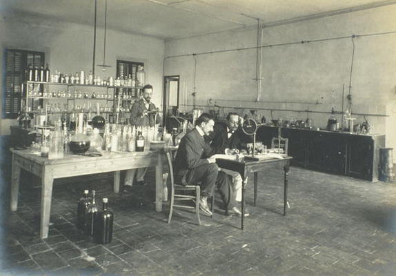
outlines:
[[[192,92],[196,92],[195,104],[204,110],[208,103],[220,108],[220,115],[234,109],[241,115],[250,109],[258,110],[267,119],[306,119],[326,128],[331,108],[341,112],[344,93],[349,93],[350,69],[353,54],[352,34],[376,34],[396,31],[396,6],[386,6],[347,14],[338,14],[298,23],[265,28],[261,70],[261,97],[257,101],[256,49],[257,30],[246,28],[199,37],[166,41],[165,75],[180,75],[181,110],[193,108]],[[345,39],[332,39],[347,37]],[[316,39],[324,41],[313,42]],[[301,43],[301,41],[312,41]],[[396,33],[355,37],[351,89],[352,111],[374,115],[386,115],[386,104],[396,98]],[[279,46],[277,44],[291,43]],[[250,48],[214,52],[206,55],[172,57],[199,54],[236,48]],[[195,63],[196,59],[196,63]],[[196,64],[196,67],[195,67]],[[195,79],[195,85],[194,85]],[[343,89],[344,87],[344,89]],[[343,92],[344,90],[344,92]],[[209,101],[212,99],[212,101]],[[300,110],[299,112],[276,109]],[[315,112],[306,112],[311,110]],[[355,124],[364,116],[355,115]],[[337,115],[341,122],[341,115]],[[386,117],[366,116],[373,132],[389,134]],[[393,131],[395,132],[395,131]],[[395,134],[394,134],[395,135]],[[394,139],[394,138],[393,138]]]

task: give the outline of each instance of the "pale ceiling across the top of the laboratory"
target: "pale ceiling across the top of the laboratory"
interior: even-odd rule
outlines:
[[[279,21],[394,4],[384,0],[108,0],[108,28],[162,39],[190,37]],[[0,0],[3,12],[23,12],[93,26],[95,0]],[[103,26],[105,0],[97,0]]]

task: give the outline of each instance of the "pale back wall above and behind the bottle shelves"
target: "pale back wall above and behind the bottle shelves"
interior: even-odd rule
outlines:
[[[51,72],[59,70],[75,73],[92,70],[94,27],[76,23],[59,22],[56,19],[34,17],[28,14],[7,12],[0,18],[0,46],[4,48],[38,50],[46,52],[46,62]],[[112,66],[103,72],[95,68],[95,75],[115,77],[117,59],[143,61],[146,83],[154,86],[152,101],[160,106],[162,99],[162,66],[164,40],[115,30],[106,32],[106,64]],[[3,55],[0,57],[3,72]],[[97,28],[95,64],[103,63],[103,29]],[[3,77],[0,78],[3,86]],[[1,97],[1,101],[3,97]],[[1,111],[1,110],[0,110]],[[8,135],[14,119],[0,120],[0,135]]]

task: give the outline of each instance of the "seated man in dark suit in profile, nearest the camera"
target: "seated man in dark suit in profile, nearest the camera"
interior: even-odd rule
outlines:
[[[216,185],[224,202],[226,215],[239,215],[235,207],[235,196],[228,177],[219,168],[214,158],[210,158],[210,147],[204,140],[204,135],[213,131],[215,121],[207,113],[196,121],[196,126],[181,139],[175,157],[175,179],[181,184],[201,183],[201,199],[199,206],[206,215],[212,215],[208,208],[208,196]]]

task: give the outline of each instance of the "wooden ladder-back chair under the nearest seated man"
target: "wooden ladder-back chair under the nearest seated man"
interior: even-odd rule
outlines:
[[[169,166],[169,174],[170,174],[170,210],[168,215],[168,224],[170,224],[170,220],[172,219],[173,208],[186,208],[186,209],[195,209],[195,214],[197,215],[197,223],[201,225],[201,219],[199,218],[199,200],[201,199],[201,187],[197,185],[181,185],[175,184],[175,177],[173,175],[173,166],[172,166],[172,152],[171,150],[166,149],[166,158],[168,159]],[[194,195],[191,195],[191,191],[194,192]],[[190,195],[189,195],[190,194]],[[213,213],[213,199],[212,197],[212,213]],[[183,203],[186,202],[190,204],[195,201],[195,206],[191,206]],[[177,202],[177,204],[175,204]],[[180,203],[179,203],[180,202]]]

